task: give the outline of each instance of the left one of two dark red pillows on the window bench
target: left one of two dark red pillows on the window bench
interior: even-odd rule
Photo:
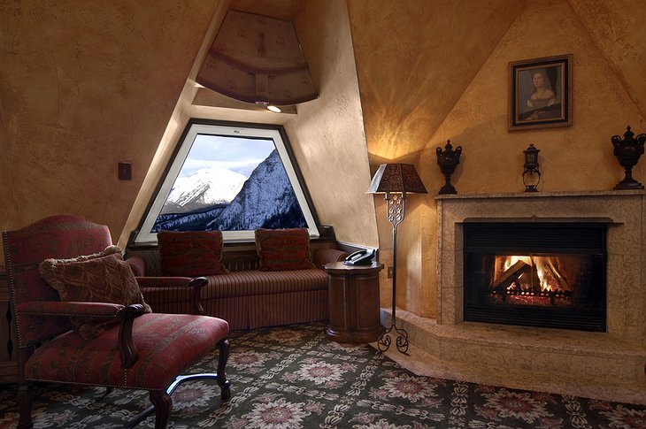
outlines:
[[[160,231],[157,234],[161,271],[165,276],[197,277],[226,274],[221,231]]]

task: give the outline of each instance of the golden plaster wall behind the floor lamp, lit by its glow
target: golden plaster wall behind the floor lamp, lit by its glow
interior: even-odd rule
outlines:
[[[512,0],[349,0],[365,134],[374,172],[384,162],[419,162],[419,154],[487,60],[521,3]],[[423,176],[423,179],[427,179]],[[425,180],[430,193],[439,180]],[[377,202],[382,261],[392,260],[392,227]],[[435,315],[435,205],[411,195],[397,242],[397,306]],[[391,290],[381,277],[381,304]]]

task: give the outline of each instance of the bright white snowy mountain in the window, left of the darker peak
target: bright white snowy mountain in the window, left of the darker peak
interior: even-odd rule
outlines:
[[[224,168],[202,168],[188,177],[175,180],[161,213],[186,213],[230,203],[238,195],[243,174]]]

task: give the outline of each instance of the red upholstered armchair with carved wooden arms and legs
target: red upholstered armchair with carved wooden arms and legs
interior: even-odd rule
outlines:
[[[146,313],[145,303],[62,301],[59,292],[43,280],[39,266],[45,259],[104,251],[112,245],[107,226],[72,216],[54,216],[15,231],[4,231],[3,241],[18,340],[19,428],[34,425],[31,414],[35,383],[41,381],[148,390],[152,406],[129,427],[154,410],[155,427],[165,428],[173,404],[170,395],[188,379],[215,378],[221,399],[230,397],[225,373],[228,324],[199,314],[199,289],[205,279],[140,279],[147,282],[142,290],[161,286],[165,294],[158,297],[183,296],[188,299],[184,307],[197,314]],[[116,259],[121,260],[120,255]],[[135,279],[129,268],[127,275]],[[153,311],[155,305],[152,303]],[[85,338],[73,329],[74,319],[112,324],[96,337]],[[179,375],[209,354],[216,344],[217,373]]]

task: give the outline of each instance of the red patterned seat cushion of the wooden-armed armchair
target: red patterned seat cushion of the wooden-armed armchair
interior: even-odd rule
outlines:
[[[227,333],[228,324],[220,318],[144,314],[133,324],[139,359],[132,367],[121,368],[119,349],[114,347],[118,329],[89,341],[69,331],[35,350],[25,364],[25,376],[36,381],[165,389]]]

